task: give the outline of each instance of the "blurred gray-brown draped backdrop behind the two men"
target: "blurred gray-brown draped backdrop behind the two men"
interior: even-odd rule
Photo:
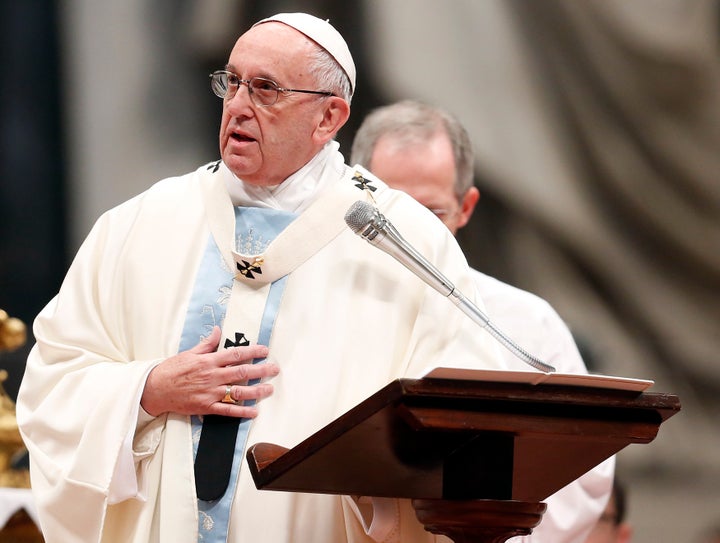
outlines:
[[[483,194],[460,233],[471,264],[551,301],[593,370],[680,396],[656,441],[619,457],[634,541],[691,541],[720,522],[717,0],[68,0],[56,7],[67,161],[55,175],[8,171],[3,209],[23,205],[28,176],[41,194],[66,179],[67,207],[58,197],[45,213],[67,215],[69,260],[102,211],[217,157],[207,74],[249,23],[296,10],[330,18],[358,64],[342,150],[381,103],[455,113]],[[45,71],[58,64],[48,57]],[[27,123],[47,130],[51,114]],[[14,220],[34,232],[23,246],[51,239]],[[20,250],[9,239],[3,260]],[[23,299],[13,285],[0,284],[0,307],[39,310],[7,307]]]

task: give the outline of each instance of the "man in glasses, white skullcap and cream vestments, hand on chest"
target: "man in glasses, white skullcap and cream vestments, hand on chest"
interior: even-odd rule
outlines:
[[[460,248],[345,165],[355,67],[328,22],[256,23],[211,85],[221,159],[103,214],[35,320],[17,418],[46,541],[445,541],[406,500],[258,491],[244,452],[292,447],[438,364],[504,368],[489,334],[344,216],[376,205],[474,298]],[[211,420],[236,423],[217,495],[221,463],[199,462],[227,451],[208,447]]]

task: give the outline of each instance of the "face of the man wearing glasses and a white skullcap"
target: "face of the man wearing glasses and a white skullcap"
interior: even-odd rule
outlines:
[[[280,87],[317,89],[308,72],[313,43],[282,23],[258,25],[240,36],[227,69],[241,79],[271,79]],[[278,101],[257,106],[246,85],[223,101],[220,153],[243,181],[277,185],[299,170],[325,141],[315,137],[323,117],[323,96],[280,93]]]

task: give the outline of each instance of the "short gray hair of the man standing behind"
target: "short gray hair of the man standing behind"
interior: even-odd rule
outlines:
[[[392,136],[401,145],[421,143],[444,131],[455,156],[455,195],[461,199],[473,186],[473,149],[465,127],[453,115],[415,100],[379,107],[365,117],[355,133],[350,163],[368,167],[378,140]]]

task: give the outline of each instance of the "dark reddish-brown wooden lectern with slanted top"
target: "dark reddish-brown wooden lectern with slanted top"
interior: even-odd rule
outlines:
[[[501,374],[558,375],[476,373]],[[409,498],[432,533],[500,543],[532,532],[542,500],[652,441],[680,410],[671,394],[597,384],[398,379],[292,449],[253,445],[248,464],[259,489]]]

